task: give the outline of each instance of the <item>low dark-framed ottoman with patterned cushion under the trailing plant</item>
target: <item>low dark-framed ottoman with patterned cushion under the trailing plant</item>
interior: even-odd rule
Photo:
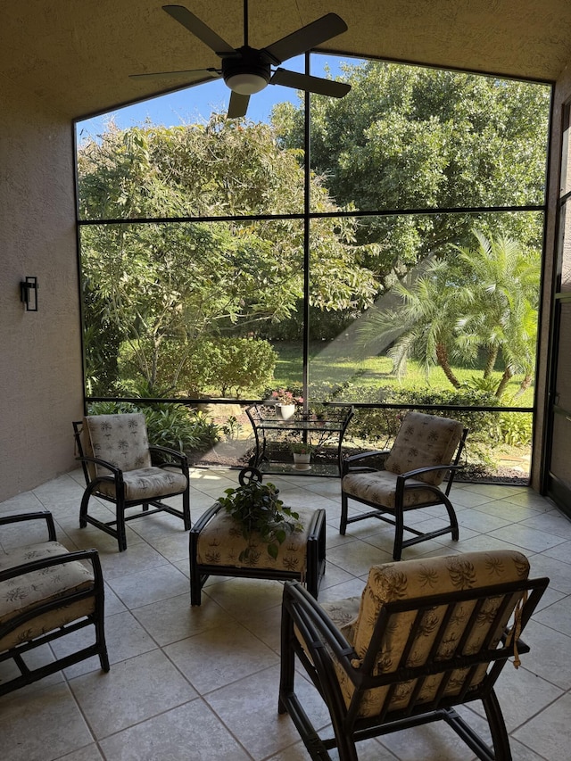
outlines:
[[[317,598],[325,573],[325,510],[296,509],[303,531],[287,537],[277,558],[268,555],[255,534],[246,542],[234,518],[216,502],[190,530],[190,603],[200,605],[204,582],[211,575],[250,579],[297,579]],[[238,558],[249,544],[250,558]],[[253,551],[252,551],[253,548]],[[256,551],[256,550],[259,550]]]

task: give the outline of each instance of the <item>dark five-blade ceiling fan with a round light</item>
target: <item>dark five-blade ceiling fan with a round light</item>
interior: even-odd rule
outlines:
[[[276,68],[279,64],[295,55],[306,53],[316,45],[326,42],[347,30],[347,25],[336,13],[325,16],[297,29],[292,34],[278,39],[277,42],[258,50],[248,45],[248,2],[244,0],[244,45],[235,49],[228,45],[215,31],[207,27],[194,13],[184,5],[163,5],[163,11],[169,13],[175,21],[208,45],[222,59],[220,69],[190,69],[183,71],[159,71],[153,74],[131,74],[131,79],[156,79],[158,77],[185,77],[189,74],[209,75],[214,79],[223,78],[230,90],[228,119],[245,116],[250,95],[259,93],[267,85],[284,85],[296,90],[307,90],[318,95],[331,95],[341,98],[351,89],[351,85],[335,82],[333,79],[310,77],[297,71]]]

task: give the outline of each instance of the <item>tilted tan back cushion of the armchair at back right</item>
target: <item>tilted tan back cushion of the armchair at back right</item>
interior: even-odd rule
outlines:
[[[385,470],[400,475],[417,467],[449,464],[462,437],[464,426],[457,420],[409,412],[385,460]],[[418,476],[426,484],[442,484],[446,470]]]

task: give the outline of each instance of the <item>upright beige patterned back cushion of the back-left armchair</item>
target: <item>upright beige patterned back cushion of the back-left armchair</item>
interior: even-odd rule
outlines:
[[[89,415],[83,418],[87,457],[107,460],[122,471],[151,467],[145,415]],[[90,476],[109,476],[109,470],[89,466]]]

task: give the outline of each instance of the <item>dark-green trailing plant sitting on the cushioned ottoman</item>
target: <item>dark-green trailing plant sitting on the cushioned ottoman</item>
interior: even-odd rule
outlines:
[[[241,526],[244,539],[250,542],[253,532],[260,534],[270,558],[277,558],[279,545],[285,542],[287,534],[302,531],[299,513],[284,507],[274,484],[250,481],[237,489],[226,489],[224,493],[226,497],[220,497],[219,503]],[[254,551],[249,543],[240,553],[240,561],[250,560]]]

